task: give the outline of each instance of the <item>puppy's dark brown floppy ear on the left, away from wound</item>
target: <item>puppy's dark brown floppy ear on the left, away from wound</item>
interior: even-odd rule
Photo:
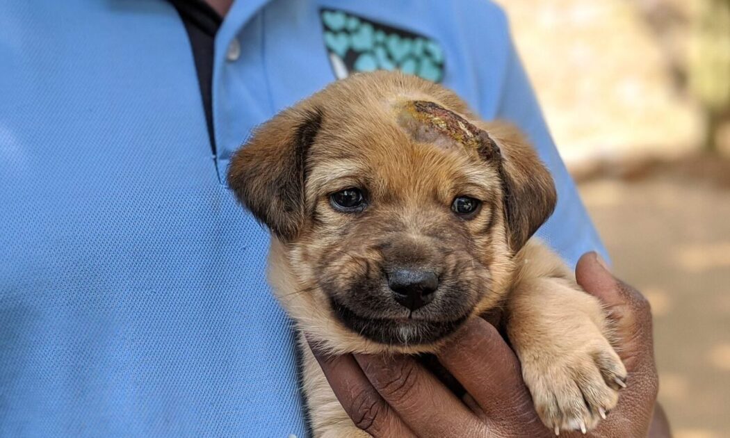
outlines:
[[[237,199],[280,239],[296,238],[304,222],[307,155],[322,119],[316,107],[280,112],[255,130],[228,166]]]

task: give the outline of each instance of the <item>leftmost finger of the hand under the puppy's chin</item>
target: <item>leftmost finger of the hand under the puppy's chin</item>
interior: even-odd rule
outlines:
[[[352,355],[325,355],[316,347],[312,347],[312,353],[337,400],[359,429],[373,437],[415,437],[375,391]]]

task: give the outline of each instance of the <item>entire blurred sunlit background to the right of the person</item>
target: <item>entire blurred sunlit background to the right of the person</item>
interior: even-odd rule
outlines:
[[[730,0],[498,0],[677,438],[730,437]]]

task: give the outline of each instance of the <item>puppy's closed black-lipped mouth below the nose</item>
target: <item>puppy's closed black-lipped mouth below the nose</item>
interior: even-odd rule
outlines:
[[[447,321],[369,318],[358,315],[334,298],[330,298],[330,305],[334,314],[347,328],[366,339],[386,345],[431,344],[452,334],[469,318],[469,314]]]

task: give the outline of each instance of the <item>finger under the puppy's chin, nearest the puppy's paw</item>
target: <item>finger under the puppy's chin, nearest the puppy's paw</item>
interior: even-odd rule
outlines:
[[[487,418],[534,415],[520,362],[490,323],[481,318],[469,321],[437,356]]]

